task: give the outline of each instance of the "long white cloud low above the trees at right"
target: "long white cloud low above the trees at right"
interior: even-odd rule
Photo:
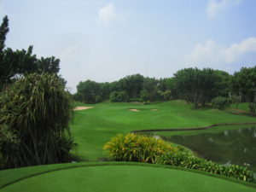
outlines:
[[[246,38],[239,44],[231,44],[229,47],[216,44],[208,40],[205,44],[197,44],[191,53],[185,56],[189,63],[232,63],[241,60],[242,56],[256,53],[256,38]]]

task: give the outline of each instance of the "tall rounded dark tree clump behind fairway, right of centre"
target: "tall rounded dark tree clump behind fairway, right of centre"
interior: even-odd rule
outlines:
[[[211,68],[184,68],[174,74],[175,84],[180,96],[187,102],[205,105],[216,96],[227,96],[229,93],[229,73]]]

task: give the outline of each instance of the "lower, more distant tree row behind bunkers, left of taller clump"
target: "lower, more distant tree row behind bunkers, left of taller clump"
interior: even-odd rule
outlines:
[[[86,80],[79,82],[78,92],[74,95],[77,101],[96,103],[103,101],[128,102],[128,101],[164,101],[171,97],[171,89],[167,79],[145,78],[143,75],[134,74],[112,83],[96,83]]]

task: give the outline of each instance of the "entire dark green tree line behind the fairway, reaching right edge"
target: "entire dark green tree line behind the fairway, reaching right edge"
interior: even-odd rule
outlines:
[[[172,78],[154,79],[140,74],[126,76],[112,83],[80,82],[77,101],[96,103],[140,101],[143,103],[183,99],[195,108],[212,106],[229,107],[231,102],[249,102],[251,113],[256,111],[256,67],[243,67],[230,75],[212,68],[184,68]]]

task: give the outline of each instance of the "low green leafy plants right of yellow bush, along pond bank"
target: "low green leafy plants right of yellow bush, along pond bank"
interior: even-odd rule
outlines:
[[[157,159],[157,163],[170,166],[182,166],[189,169],[211,172],[227,177],[235,177],[247,182],[253,182],[253,172],[248,171],[247,167],[219,165],[218,163],[195,157],[186,152],[166,153]]]

